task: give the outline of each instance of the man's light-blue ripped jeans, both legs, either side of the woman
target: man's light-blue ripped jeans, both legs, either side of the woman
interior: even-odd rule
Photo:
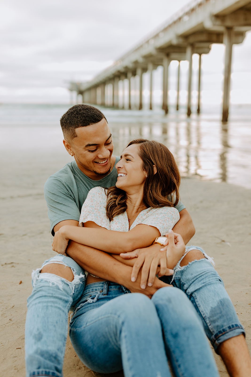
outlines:
[[[187,248],[187,251],[195,248],[197,247]],[[40,274],[41,269],[33,271],[33,290],[28,298],[25,334],[27,377],[62,376],[68,311],[73,307],[79,308],[84,303],[82,295],[85,275],[82,268],[70,257],[60,255],[49,259],[43,266],[48,263],[61,263],[70,267],[74,280],[68,282],[53,274]],[[171,277],[161,279],[165,279],[167,283],[171,281]],[[195,306],[216,352],[224,340],[244,334],[223,282],[207,259],[194,261],[184,267],[180,267],[179,262],[175,267],[172,284],[183,290]],[[84,295],[85,293],[86,291]],[[80,310],[81,308],[76,311],[72,324]],[[71,325],[71,337],[72,331]]]

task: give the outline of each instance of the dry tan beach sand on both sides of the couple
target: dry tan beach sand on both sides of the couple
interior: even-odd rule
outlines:
[[[63,152],[63,151],[62,151]],[[22,159],[7,156],[1,183],[1,375],[25,375],[24,324],[26,299],[31,293],[30,274],[54,255],[43,184],[68,156],[23,152]],[[11,174],[11,173],[12,174]],[[251,349],[250,190],[227,183],[185,178],[181,198],[192,215],[196,234],[192,244],[214,257],[215,268],[246,329]],[[225,367],[216,356],[221,376]],[[67,340],[64,376],[93,376]],[[121,375],[121,374],[119,374]]]

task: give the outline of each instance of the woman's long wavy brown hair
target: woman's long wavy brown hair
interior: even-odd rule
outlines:
[[[139,144],[138,155],[142,159],[142,170],[147,178],[144,184],[143,201],[146,207],[174,207],[180,198],[180,172],[170,150],[154,140],[136,139]],[[157,172],[154,174],[154,166]],[[126,211],[126,192],[116,186],[106,189],[106,215],[110,221]]]

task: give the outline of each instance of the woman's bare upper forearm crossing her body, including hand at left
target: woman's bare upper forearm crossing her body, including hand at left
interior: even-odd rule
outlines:
[[[64,253],[68,241],[71,239],[79,244],[106,251],[106,253],[120,254],[136,248],[147,247],[156,237],[160,236],[160,231],[157,228],[146,224],[138,224],[128,232],[120,232],[102,227],[92,228],[88,223],[91,222],[85,223],[84,228],[71,225],[61,227],[55,233],[53,250]]]

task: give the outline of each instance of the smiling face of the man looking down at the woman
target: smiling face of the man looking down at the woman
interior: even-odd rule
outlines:
[[[64,142],[66,149],[73,153],[79,169],[85,175],[93,180],[103,178],[110,172],[113,153],[111,132],[105,118],[75,131],[77,136]]]

